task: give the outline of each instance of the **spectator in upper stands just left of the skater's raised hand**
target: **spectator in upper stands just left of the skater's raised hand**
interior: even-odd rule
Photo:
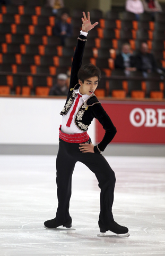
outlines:
[[[55,27],[53,28],[53,34],[61,37],[61,44],[65,44],[65,38],[72,36],[72,25],[67,23],[68,14],[62,13],[60,20],[56,21]]]

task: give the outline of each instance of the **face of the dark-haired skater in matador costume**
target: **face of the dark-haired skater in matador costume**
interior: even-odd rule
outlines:
[[[95,89],[97,89],[98,77],[97,76],[90,77],[86,79],[84,83],[82,83],[82,81],[79,79],[79,84],[81,86],[80,87],[81,94],[92,95]]]

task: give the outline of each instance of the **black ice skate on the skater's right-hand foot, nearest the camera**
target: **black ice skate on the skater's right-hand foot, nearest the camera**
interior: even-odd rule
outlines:
[[[120,226],[118,223],[116,223],[114,220],[112,220],[107,227],[103,225],[101,220],[99,220],[99,228],[100,228],[100,235],[103,237],[128,237],[128,228]],[[113,233],[116,233],[116,235],[106,235],[106,231],[111,231]]]

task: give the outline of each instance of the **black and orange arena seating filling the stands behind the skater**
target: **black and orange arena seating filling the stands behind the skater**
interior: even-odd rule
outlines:
[[[0,6],[0,94],[48,95],[56,75],[71,69],[82,10],[73,10],[68,19],[73,26],[73,37],[61,46],[60,38],[52,35],[56,17],[40,3],[28,0],[24,6],[22,0],[16,0],[12,5]],[[93,9],[90,17],[92,23],[99,21],[99,25],[89,32],[83,64],[91,62],[101,69],[103,79],[97,96],[164,98],[160,75],[153,74],[146,81],[139,71],[132,72],[128,79],[122,70],[114,70],[121,45],[129,42],[136,52],[143,41],[158,66],[165,68],[164,13],[157,13],[155,22],[148,13],[141,14],[140,21],[136,21],[135,15],[126,11],[120,14],[108,11],[103,18],[100,10]]]

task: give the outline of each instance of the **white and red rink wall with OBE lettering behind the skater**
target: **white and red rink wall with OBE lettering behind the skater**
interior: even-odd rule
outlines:
[[[100,101],[117,128],[108,155],[128,149],[127,155],[165,156],[165,102]],[[64,103],[64,98],[0,97],[0,154],[56,154]],[[94,120],[88,133],[97,143],[104,130]]]

